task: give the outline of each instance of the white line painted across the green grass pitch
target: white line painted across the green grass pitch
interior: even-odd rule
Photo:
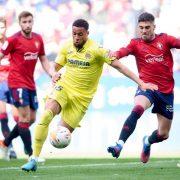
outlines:
[[[176,162],[175,160],[170,160],[170,161],[152,161],[148,164],[156,163],[156,164],[161,164],[161,163],[170,163],[170,162]],[[141,162],[123,162],[121,163],[120,161],[118,163],[106,163],[106,164],[68,164],[68,165],[58,165],[58,166],[39,166],[38,169],[55,169],[55,168],[69,168],[69,167],[98,167],[98,166],[123,166],[123,165],[143,165]],[[178,166],[178,165],[177,165]],[[2,167],[0,168],[0,171],[4,170],[20,170],[21,167]]]

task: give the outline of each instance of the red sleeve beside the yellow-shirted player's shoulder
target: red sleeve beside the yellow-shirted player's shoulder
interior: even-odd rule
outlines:
[[[118,51],[116,51],[115,55],[118,59],[128,56],[130,54],[132,55],[134,54],[134,47],[135,47],[135,42],[132,39],[126,47],[122,47]]]

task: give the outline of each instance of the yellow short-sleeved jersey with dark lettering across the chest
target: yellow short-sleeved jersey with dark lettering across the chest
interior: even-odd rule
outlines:
[[[57,84],[74,95],[91,99],[96,92],[103,64],[111,64],[113,60],[108,53],[91,39],[79,51],[72,40],[66,42],[55,60],[65,67],[65,73]]]

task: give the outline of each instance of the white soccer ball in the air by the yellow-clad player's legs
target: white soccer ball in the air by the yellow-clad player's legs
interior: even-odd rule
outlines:
[[[71,132],[63,126],[58,126],[57,129],[50,132],[50,143],[55,148],[65,148],[71,142]]]

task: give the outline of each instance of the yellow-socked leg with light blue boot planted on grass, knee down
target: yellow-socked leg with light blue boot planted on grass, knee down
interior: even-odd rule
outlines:
[[[38,157],[41,153],[43,144],[48,135],[48,127],[55,115],[59,114],[61,106],[56,100],[47,99],[45,110],[41,116],[40,122],[35,127],[35,137],[33,145],[33,156],[31,160],[22,166],[24,171],[35,171],[37,169]]]

